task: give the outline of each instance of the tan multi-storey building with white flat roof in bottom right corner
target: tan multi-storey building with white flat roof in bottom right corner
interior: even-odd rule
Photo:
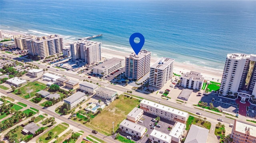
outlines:
[[[255,143],[256,125],[235,119],[231,137],[234,143]]]

